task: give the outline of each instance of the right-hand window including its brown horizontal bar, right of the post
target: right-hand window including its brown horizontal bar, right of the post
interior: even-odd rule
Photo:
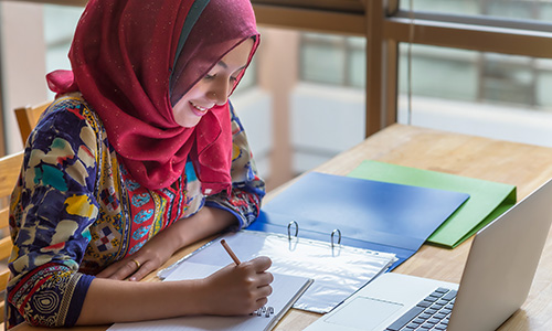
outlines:
[[[433,31],[413,45],[401,40],[400,122],[552,146],[552,60],[537,57],[551,42],[552,2],[416,0],[401,9],[408,29]]]

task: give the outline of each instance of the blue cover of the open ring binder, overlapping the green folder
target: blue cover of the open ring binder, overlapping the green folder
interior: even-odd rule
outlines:
[[[394,253],[395,268],[469,194],[309,172],[262,207],[247,229],[295,235]],[[295,222],[291,226],[290,223]]]

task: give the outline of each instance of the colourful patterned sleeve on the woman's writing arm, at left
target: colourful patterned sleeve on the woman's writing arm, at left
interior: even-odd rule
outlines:
[[[98,214],[96,135],[82,107],[57,104],[25,147],[11,201],[9,327],[73,325],[93,279],[77,271]]]

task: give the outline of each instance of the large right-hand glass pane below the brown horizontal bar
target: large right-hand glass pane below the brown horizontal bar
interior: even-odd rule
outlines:
[[[410,65],[411,86],[401,45],[400,122],[552,146],[552,60],[413,45]]]

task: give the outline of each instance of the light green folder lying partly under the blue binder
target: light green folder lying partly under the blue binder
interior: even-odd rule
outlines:
[[[364,161],[350,177],[468,193],[470,197],[427,239],[454,248],[516,204],[516,186],[449,173]]]

